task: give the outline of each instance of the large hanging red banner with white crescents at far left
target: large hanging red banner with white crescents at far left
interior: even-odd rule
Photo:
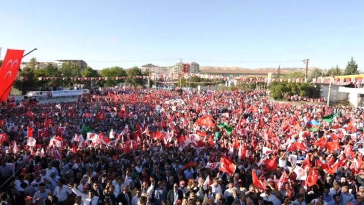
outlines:
[[[0,68],[0,101],[6,100],[18,73],[24,50],[8,49]]]

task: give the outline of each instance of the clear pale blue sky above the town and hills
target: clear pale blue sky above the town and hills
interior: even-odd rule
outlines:
[[[364,65],[363,0],[3,0],[6,48],[94,69],[182,58],[248,68]],[[288,62],[292,61],[292,62]],[[295,61],[295,62],[293,62]]]

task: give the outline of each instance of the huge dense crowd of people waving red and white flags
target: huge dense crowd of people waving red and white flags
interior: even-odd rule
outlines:
[[[7,102],[1,203],[363,205],[363,114],[273,102],[265,90]]]

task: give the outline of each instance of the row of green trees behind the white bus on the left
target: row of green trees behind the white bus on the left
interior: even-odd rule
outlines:
[[[1,66],[0,61],[0,66]],[[39,89],[46,89],[50,86],[73,86],[75,84],[85,84],[86,87],[90,87],[92,85],[98,86],[115,86],[119,83],[126,82],[132,85],[143,85],[146,84],[145,79],[139,78],[127,78],[127,79],[112,79],[110,77],[133,77],[133,76],[142,76],[142,75],[149,75],[149,72],[142,72],[140,68],[137,66],[131,67],[130,69],[124,70],[122,67],[114,66],[114,67],[107,67],[98,72],[91,67],[84,67],[80,68],[76,66],[72,62],[63,63],[62,66],[58,67],[54,63],[48,63],[43,68],[38,68],[39,62],[37,62],[36,58],[32,58],[29,61],[29,64],[25,66],[23,69],[19,71],[19,77],[27,77],[27,80],[18,80],[15,81],[14,87],[21,90],[23,94],[30,90],[39,90]],[[47,81],[38,81],[38,77],[62,77],[66,78],[58,79],[54,78],[54,80],[47,80]],[[105,81],[74,81],[72,80],[73,77],[109,77]]]

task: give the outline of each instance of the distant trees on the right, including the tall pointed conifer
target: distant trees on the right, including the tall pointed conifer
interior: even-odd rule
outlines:
[[[277,70],[277,75],[281,76],[280,73],[280,68],[278,68]],[[340,69],[339,66],[335,66],[335,67],[331,67],[330,69],[328,69],[327,71],[318,69],[318,68],[314,68],[310,71],[310,73],[308,74],[308,78],[318,78],[318,77],[327,77],[327,76],[341,76],[341,75],[356,75],[359,74],[359,70],[358,70],[358,65],[356,64],[356,62],[354,61],[353,57],[351,57],[351,60],[348,61],[345,70],[342,71]],[[281,76],[282,77],[282,76]],[[304,78],[305,74],[299,71],[294,71],[292,73],[289,73],[285,76],[285,78]]]

